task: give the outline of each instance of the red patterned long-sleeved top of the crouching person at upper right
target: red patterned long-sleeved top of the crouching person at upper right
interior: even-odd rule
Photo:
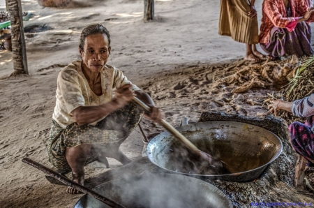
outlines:
[[[273,27],[286,28],[290,22],[297,20],[295,17],[303,17],[308,10],[305,0],[290,0],[291,17],[287,17],[285,5],[282,0],[264,0],[262,6],[262,24],[260,25],[260,43],[269,43],[270,31]],[[308,19],[314,22],[314,15]]]

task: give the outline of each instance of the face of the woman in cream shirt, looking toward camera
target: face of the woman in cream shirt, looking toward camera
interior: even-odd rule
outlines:
[[[87,36],[84,51],[80,49],[83,63],[91,72],[98,73],[107,63],[111,47],[105,34]]]

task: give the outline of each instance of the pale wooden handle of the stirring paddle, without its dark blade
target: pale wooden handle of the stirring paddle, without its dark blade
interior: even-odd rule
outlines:
[[[143,103],[142,101],[140,101],[140,99],[133,97],[133,103],[135,103],[137,106],[141,107],[144,111],[146,112],[150,112],[150,107],[147,106],[145,103]],[[198,154],[200,154],[200,149],[198,149],[192,142],[190,142],[190,140],[188,140],[184,135],[182,135],[181,133],[179,133],[179,131],[177,131],[177,129],[173,128],[167,121],[165,121],[164,119],[161,119],[160,123],[161,126],[163,126],[165,129],[167,129],[167,131],[169,131],[169,133],[171,133],[172,135],[174,135],[176,138],[178,138],[179,140],[181,140],[181,142],[184,142],[184,144],[186,144],[186,146],[191,149],[192,151],[197,152]]]

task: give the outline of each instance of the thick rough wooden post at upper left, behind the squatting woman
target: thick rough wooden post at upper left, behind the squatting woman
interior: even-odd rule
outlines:
[[[10,13],[12,49],[13,49],[13,75],[29,74],[27,69],[27,54],[24,38],[22,4],[20,0],[7,0]]]

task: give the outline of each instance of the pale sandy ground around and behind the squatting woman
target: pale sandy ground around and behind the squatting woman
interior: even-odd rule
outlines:
[[[66,194],[64,186],[50,184],[43,172],[21,160],[29,157],[52,167],[45,144],[57,75],[80,58],[80,31],[88,24],[107,27],[112,36],[108,64],[150,92],[173,126],[184,116],[197,121],[204,110],[249,116],[267,111],[262,101],[274,89],[232,94],[219,82],[228,73],[224,68],[251,63],[241,61],[244,44],[218,35],[217,0],[155,0],[156,20],[149,23],[142,21],[142,0],[73,1],[65,8],[42,8],[37,1],[22,0],[22,5],[34,14],[24,26],[46,24],[52,29],[26,37],[28,77],[6,79],[13,72],[12,54],[0,51],[0,207],[73,207],[82,196]],[[262,0],[256,6],[260,21]],[[143,128],[147,135],[163,131],[147,120]],[[142,156],[142,147],[137,128],[121,149],[135,159]],[[121,165],[109,162],[110,168]],[[86,177],[103,171],[87,167]]]

